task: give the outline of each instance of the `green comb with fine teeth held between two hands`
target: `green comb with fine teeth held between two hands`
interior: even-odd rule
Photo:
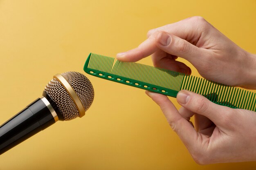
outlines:
[[[83,70],[96,77],[171,97],[176,97],[184,89],[222,106],[256,111],[256,93],[251,91],[163,68],[118,60],[114,63],[114,60],[113,57],[90,53]]]

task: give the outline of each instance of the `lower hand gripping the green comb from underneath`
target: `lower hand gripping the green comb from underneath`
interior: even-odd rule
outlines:
[[[160,106],[197,163],[256,161],[255,112],[220,106],[189,91],[178,93],[178,111],[165,95],[146,94]],[[189,122],[193,115],[195,128]]]

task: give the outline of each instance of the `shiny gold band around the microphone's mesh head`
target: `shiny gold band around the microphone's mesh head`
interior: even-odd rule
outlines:
[[[60,74],[56,74],[53,77],[57,79],[58,82],[60,82],[62,86],[66,89],[67,93],[70,95],[74,104],[76,105],[76,108],[79,112],[79,117],[83,117],[85,115],[85,109],[83,108],[83,104],[79,99],[78,95],[76,94],[76,92],[74,91],[74,89],[72,88],[72,86],[70,86],[67,80]]]

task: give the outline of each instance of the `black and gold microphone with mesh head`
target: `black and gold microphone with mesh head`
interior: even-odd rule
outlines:
[[[92,105],[94,89],[78,72],[54,75],[43,96],[0,126],[0,155],[56,121],[83,117]]]

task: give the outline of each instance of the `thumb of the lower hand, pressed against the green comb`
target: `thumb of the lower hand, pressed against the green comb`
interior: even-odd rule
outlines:
[[[220,106],[202,95],[186,90],[182,90],[177,94],[177,102],[194,113],[208,117],[216,125],[223,124],[222,119],[231,113],[231,108]]]

